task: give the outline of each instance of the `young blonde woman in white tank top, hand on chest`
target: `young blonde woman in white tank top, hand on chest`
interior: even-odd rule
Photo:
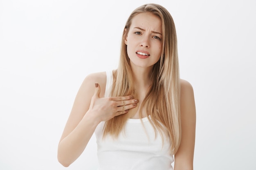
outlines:
[[[170,13],[158,4],[132,12],[117,70],[88,75],[58,146],[65,167],[95,132],[99,170],[193,170],[193,88],[179,77]]]

